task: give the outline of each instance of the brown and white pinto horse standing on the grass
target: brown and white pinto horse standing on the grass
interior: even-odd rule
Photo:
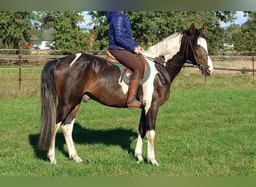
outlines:
[[[205,76],[210,76],[213,72],[204,30],[205,25],[201,29],[196,29],[192,24],[188,30],[174,33],[143,52],[142,55],[150,66],[150,76],[142,85],[145,107],[141,108],[135,147],[138,162],[143,162],[142,139],[146,136],[147,161],[159,165],[155,159],[153,144],[156,115],[159,106],[168,99],[171,82],[180,72],[183,64],[189,61]],[[153,59],[159,56],[164,56],[165,61],[155,63]],[[47,156],[52,164],[57,163],[55,135],[59,127],[64,132],[70,159],[82,162],[76,153],[72,138],[73,124],[82,100],[94,99],[103,105],[127,108],[128,85],[121,81],[121,77],[118,67],[106,59],[81,53],[49,61],[43,67],[42,125],[38,148],[48,151]]]

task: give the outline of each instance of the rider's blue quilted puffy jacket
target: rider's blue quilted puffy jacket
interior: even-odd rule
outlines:
[[[132,29],[128,17],[122,12],[109,12],[109,49],[126,49],[134,52],[138,43],[132,40]]]

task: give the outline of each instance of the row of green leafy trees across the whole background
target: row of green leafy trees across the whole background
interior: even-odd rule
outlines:
[[[31,37],[42,38],[43,28],[53,28],[52,49],[72,54],[77,50],[104,50],[109,44],[109,23],[107,12],[88,12],[91,27],[82,28],[82,12],[76,11],[1,11],[0,48],[24,49],[32,43]],[[222,28],[220,21],[233,22],[234,11],[128,11],[132,36],[145,49],[173,34],[183,31],[195,23],[197,28],[207,25],[205,36],[211,55],[256,51],[256,12],[244,12],[249,19],[243,25],[232,24]],[[234,46],[227,49],[224,43]],[[255,53],[253,54],[255,55]]]

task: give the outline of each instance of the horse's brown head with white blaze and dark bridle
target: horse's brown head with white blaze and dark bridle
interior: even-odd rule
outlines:
[[[213,73],[213,62],[208,54],[207,40],[204,37],[205,28],[206,25],[196,29],[192,23],[183,34],[180,50],[183,52],[185,61],[197,66],[205,76],[210,76]]]

